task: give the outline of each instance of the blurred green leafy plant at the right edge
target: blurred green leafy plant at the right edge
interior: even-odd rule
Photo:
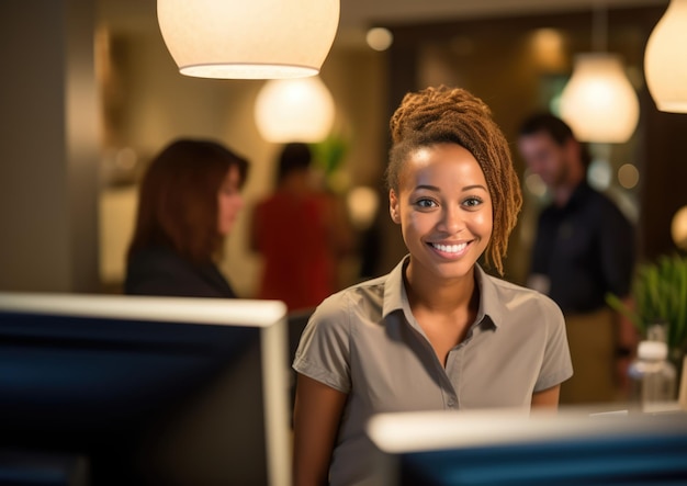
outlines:
[[[663,323],[669,358],[682,365],[687,351],[687,256],[664,255],[640,264],[631,297],[631,306],[613,294],[608,294],[606,302],[630,319],[643,337],[651,325]]]

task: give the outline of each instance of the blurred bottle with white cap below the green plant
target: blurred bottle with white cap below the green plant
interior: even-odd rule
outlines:
[[[667,361],[668,347],[662,341],[641,341],[630,364],[631,400],[645,412],[661,411],[675,402],[675,366]]]

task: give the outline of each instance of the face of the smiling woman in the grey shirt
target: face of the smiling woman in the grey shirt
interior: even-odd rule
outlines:
[[[390,192],[392,219],[410,252],[408,272],[439,279],[472,275],[492,236],[492,197],[472,154],[457,144],[410,152]]]

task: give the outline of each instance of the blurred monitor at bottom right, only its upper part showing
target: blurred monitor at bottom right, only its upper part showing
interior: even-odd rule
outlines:
[[[687,414],[386,414],[370,485],[649,486],[687,484]]]

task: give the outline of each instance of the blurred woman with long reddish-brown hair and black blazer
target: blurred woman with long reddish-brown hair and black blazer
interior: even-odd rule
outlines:
[[[124,292],[236,297],[216,262],[247,172],[248,161],[217,142],[178,139],[162,149],[140,185]]]

